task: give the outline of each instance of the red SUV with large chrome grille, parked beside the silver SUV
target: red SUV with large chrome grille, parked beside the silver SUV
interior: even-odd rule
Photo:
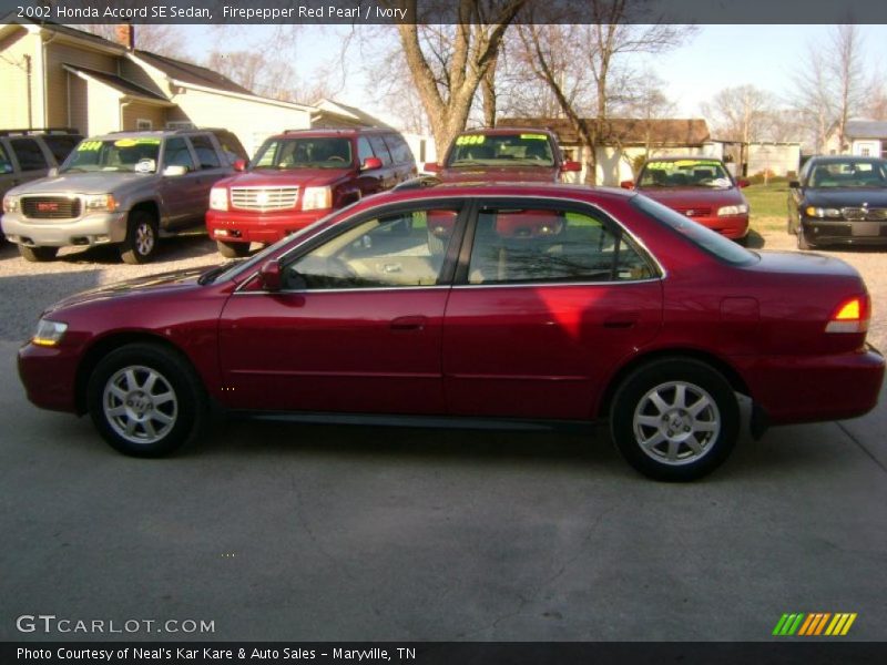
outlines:
[[[274,243],[363,196],[416,175],[416,161],[392,130],[297,130],[268,139],[246,171],[218,182],[206,228],[223,256]]]

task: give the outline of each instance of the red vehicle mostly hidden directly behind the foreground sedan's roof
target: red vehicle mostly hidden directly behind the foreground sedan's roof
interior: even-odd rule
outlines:
[[[496,127],[462,132],[443,162],[426,164],[425,170],[446,183],[557,183],[582,165],[564,161],[549,130]]]

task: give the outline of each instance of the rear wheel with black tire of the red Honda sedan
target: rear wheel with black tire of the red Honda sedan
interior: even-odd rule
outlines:
[[[653,395],[662,400],[664,411],[651,399]],[[700,411],[694,413],[694,409]],[[656,360],[620,386],[610,411],[610,431],[622,457],[644,475],[696,480],[732,452],[740,407],[727,380],[708,365],[681,358]]]

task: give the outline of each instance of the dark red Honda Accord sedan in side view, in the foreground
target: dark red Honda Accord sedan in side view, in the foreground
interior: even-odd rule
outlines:
[[[632,192],[407,187],[249,259],[70,297],[19,370],[33,403],[89,412],[140,457],[195,438],[212,403],[605,419],[635,469],[691,480],[733,449],[737,395],[756,436],[869,411],[885,368],[869,313],[847,264],[748,252]]]

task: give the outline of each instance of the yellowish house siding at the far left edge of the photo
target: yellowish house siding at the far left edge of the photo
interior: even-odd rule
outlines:
[[[0,104],[0,126],[19,129],[43,124],[43,84],[40,74],[40,37],[24,29],[16,31],[0,42],[0,90],[6,102]],[[30,122],[28,95],[28,65],[31,58]]]

